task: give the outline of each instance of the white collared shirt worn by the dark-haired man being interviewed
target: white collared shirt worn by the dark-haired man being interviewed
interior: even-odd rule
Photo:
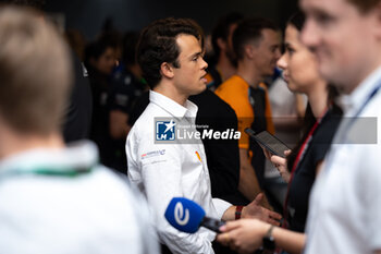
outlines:
[[[156,118],[173,118],[195,124],[197,106],[187,100],[185,107],[156,93],[150,104],[132,128],[126,143],[128,178],[146,195],[157,214],[161,240],[174,253],[213,253],[216,234],[199,229],[195,234],[183,233],[170,226],[164,211],[172,197],[186,197],[198,203],[208,217],[221,218],[231,204],[212,198],[207,158],[201,142],[194,144],[158,144]]]

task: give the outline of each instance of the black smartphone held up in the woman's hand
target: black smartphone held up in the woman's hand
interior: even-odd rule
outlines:
[[[288,150],[290,148],[276,136],[271,135],[267,131],[255,133],[255,131],[249,128],[246,128],[245,132],[259,145],[265,146],[268,150],[270,150],[271,154],[285,158],[284,152]]]

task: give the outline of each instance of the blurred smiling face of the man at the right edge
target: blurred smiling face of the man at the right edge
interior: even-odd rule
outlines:
[[[360,13],[347,0],[300,0],[307,20],[302,40],[315,51],[322,76],[351,93],[379,58],[374,12]]]

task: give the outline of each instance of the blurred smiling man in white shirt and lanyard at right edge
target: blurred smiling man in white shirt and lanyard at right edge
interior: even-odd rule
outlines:
[[[300,0],[302,39],[344,94],[310,198],[305,253],[381,253],[381,1]]]

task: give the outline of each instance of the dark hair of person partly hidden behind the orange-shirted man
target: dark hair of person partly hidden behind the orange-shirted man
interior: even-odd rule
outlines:
[[[211,46],[213,47],[214,55],[218,56],[220,55],[220,47],[218,46],[217,40],[219,38],[223,40],[228,40],[229,37],[229,31],[231,25],[237,24],[239,21],[244,19],[244,15],[242,15],[238,12],[231,12],[224,16],[221,16],[216,26],[213,27],[213,31],[211,33]]]

